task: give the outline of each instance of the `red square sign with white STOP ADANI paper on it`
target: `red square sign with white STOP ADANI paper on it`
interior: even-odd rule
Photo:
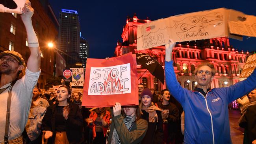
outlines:
[[[136,57],[132,53],[109,60],[87,59],[85,79],[85,107],[139,104]]]

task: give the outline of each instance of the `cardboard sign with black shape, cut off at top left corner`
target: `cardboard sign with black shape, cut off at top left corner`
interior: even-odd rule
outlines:
[[[0,0],[0,12],[21,13],[27,0]]]

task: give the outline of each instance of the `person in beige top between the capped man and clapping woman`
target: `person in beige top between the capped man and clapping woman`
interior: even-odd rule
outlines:
[[[45,116],[46,108],[49,107],[47,100],[40,98],[41,90],[38,87],[33,89],[33,98],[28,114],[28,122],[22,133],[24,144],[41,144],[42,120]]]

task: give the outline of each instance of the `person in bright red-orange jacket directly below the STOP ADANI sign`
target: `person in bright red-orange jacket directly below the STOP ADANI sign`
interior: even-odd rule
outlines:
[[[110,122],[110,113],[106,107],[94,109],[87,122],[88,127],[93,129],[93,144],[106,143],[106,133]]]

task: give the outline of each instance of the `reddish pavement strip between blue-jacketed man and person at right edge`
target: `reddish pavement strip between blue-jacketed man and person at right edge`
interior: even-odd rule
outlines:
[[[233,144],[243,144],[243,129],[238,125],[240,116],[239,110],[229,110],[230,135]]]

